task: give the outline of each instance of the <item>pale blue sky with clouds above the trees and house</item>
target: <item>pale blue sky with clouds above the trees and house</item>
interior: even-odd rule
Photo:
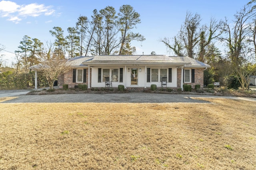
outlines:
[[[80,15],[90,19],[92,11],[113,6],[118,12],[120,6],[131,5],[140,14],[141,23],[134,32],[146,38],[143,42],[132,41],[137,55],[173,55],[166,50],[160,38],[174,37],[186,17],[186,12],[200,14],[202,24],[211,17],[216,20],[228,18],[230,23],[236,11],[250,0],[0,0],[0,44],[6,51],[18,50],[24,35],[37,38],[43,43],[54,42],[49,33],[53,27],[61,27],[64,35],[67,28],[74,27]],[[6,63],[15,62],[15,55],[6,51]]]

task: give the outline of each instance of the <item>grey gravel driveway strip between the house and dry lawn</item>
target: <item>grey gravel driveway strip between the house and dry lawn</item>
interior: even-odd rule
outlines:
[[[3,97],[3,96],[2,96]],[[7,96],[8,97],[8,96]],[[48,94],[48,95],[17,95],[11,100],[1,103],[207,103],[196,98],[232,98],[256,102],[255,98],[206,96],[190,94],[152,94],[143,92],[118,94]]]

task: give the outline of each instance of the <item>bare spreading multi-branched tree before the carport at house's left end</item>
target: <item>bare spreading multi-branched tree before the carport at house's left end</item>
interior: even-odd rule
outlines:
[[[70,70],[67,60],[58,56],[58,53],[54,52],[53,45],[49,43],[47,43],[47,47],[41,53],[38,67],[46,77],[50,89],[53,89],[54,81],[58,76]]]

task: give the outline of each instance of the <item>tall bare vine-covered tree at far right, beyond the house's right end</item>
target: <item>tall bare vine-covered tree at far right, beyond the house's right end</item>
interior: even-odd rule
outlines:
[[[232,64],[233,74],[238,78],[245,90],[248,87],[248,76],[250,75],[250,55],[246,50],[247,37],[250,33],[248,26],[251,17],[250,12],[244,7],[234,15],[234,24],[229,25],[228,20],[224,22],[223,32],[225,37],[221,41],[228,47],[228,57]]]

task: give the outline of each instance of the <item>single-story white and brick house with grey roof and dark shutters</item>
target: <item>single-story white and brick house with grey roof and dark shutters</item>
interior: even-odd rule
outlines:
[[[69,59],[71,70],[58,78],[58,84],[74,88],[87,84],[88,88],[105,87],[109,78],[112,87],[122,84],[125,88],[150,88],[151,84],[161,87],[163,77],[166,87],[182,88],[183,84],[204,85],[204,70],[208,64],[190,57],[166,55],[97,55]]]

